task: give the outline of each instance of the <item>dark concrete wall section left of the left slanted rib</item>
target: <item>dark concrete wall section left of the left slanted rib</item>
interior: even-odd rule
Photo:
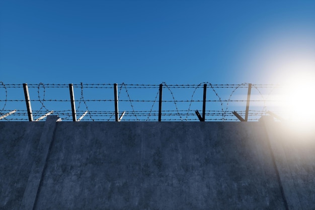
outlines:
[[[0,209],[19,209],[44,122],[0,122]]]

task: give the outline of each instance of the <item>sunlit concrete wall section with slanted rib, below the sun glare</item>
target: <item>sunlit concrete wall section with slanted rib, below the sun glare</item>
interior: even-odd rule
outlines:
[[[288,209],[315,209],[315,130],[309,136],[264,116]]]

